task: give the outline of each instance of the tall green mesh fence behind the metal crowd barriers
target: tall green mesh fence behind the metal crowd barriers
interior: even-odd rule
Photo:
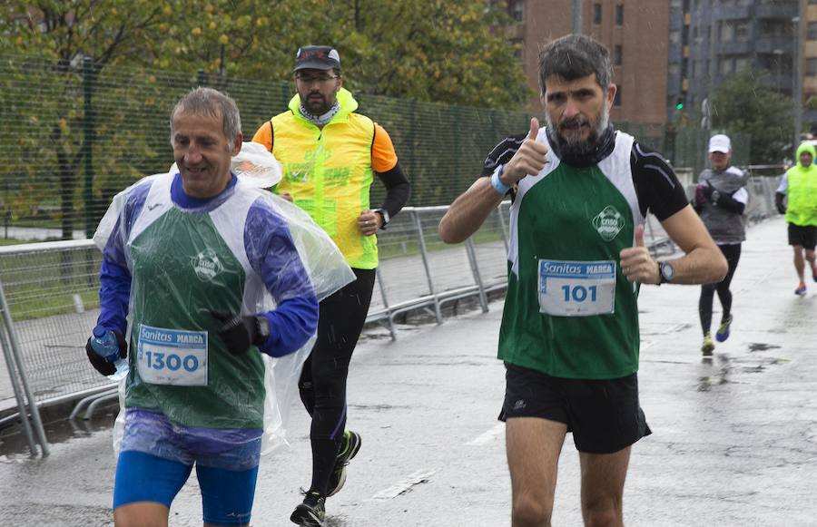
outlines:
[[[294,93],[291,83],[278,80],[99,68],[90,61],[54,64],[23,56],[0,60],[0,238],[90,236],[113,194],[144,175],[168,170],[169,115],[195,85],[231,94],[248,140],[286,108]],[[477,177],[487,152],[507,134],[527,131],[531,117],[527,112],[391,99],[349,88],[359,100],[359,112],[391,135],[412,183],[413,206],[454,200]],[[665,151],[663,128],[616,124]],[[692,146],[669,149],[676,153],[674,165],[697,167],[692,163],[704,161],[706,138],[699,130],[684,134],[678,136],[691,139],[683,144]],[[382,193],[382,186],[373,186],[374,203]]]

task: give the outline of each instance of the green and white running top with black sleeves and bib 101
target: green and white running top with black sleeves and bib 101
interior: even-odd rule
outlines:
[[[512,139],[497,145],[494,164],[516,151]],[[545,130],[536,141],[547,141]],[[519,181],[511,206],[498,356],[550,376],[631,375],[638,370],[638,287],[618,255],[635,245],[635,226],[648,209],[660,220],[683,209],[684,190],[659,154],[624,132],[597,164],[569,166],[552,147],[547,160],[538,175]]]

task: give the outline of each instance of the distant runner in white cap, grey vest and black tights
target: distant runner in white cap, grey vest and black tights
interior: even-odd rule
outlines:
[[[729,265],[726,277],[714,284],[701,287],[701,298],[698,299],[698,315],[701,317],[701,329],[704,332],[704,344],[701,352],[712,356],[714,341],[710,331],[712,327],[712,306],[714,293],[721,301],[721,324],[715,333],[718,342],[729,338],[732,327],[732,283],[738,260],[741,259],[741,244],[746,239],[743,212],[749,200],[746,183],[749,176],[741,169],[734,167],[732,161],[732,142],[729,137],[719,133],[709,140],[709,161],[712,168],[701,172],[698,186],[695,189],[694,209],[704,220],[706,229],[712,235],[723,257]]]

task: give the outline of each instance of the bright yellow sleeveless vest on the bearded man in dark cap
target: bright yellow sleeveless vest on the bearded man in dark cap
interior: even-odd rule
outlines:
[[[338,245],[349,267],[378,267],[377,238],[363,236],[358,216],[369,209],[374,122],[359,113],[358,102],[341,88],[340,111],[323,129],[300,115],[300,98],[290,111],[272,118],[272,153],[283,176],[275,192],[289,192],[295,204]]]

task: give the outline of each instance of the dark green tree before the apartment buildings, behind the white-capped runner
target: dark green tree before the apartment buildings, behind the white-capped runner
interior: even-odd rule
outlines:
[[[712,97],[713,129],[752,137],[752,164],[792,157],[792,98],[769,87],[768,73],[743,71],[722,83]]]

